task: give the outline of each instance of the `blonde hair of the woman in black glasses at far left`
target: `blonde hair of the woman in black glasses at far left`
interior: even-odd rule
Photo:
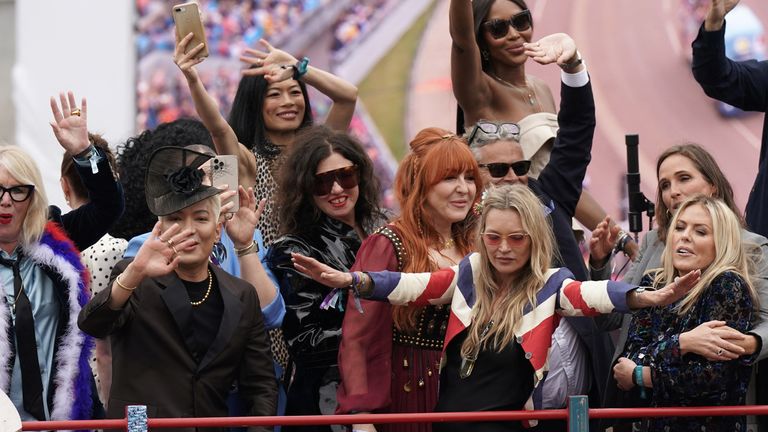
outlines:
[[[0,166],[5,168],[19,184],[35,186],[29,198],[29,207],[21,225],[18,241],[22,246],[37,243],[48,222],[48,197],[45,194],[40,170],[32,157],[16,146],[0,147]]]

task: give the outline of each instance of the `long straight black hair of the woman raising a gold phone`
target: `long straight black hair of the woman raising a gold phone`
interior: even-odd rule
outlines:
[[[299,87],[304,95],[304,118],[299,128],[312,124],[312,107],[309,104],[307,85],[299,80]],[[275,157],[280,154],[280,148],[269,142],[264,127],[264,98],[267,95],[269,82],[261,75],[244,76],[237,86],[235,100],[229,111],[229,125],[237,135],[237,140],[261,156]]]

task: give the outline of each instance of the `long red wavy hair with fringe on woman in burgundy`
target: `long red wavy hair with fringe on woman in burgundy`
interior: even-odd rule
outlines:
[[[459,174],[471,174],[474,178],[475,201],[483,190],[480,170],[466,141],[440,128],[427,128],[416,134],[409,144],[411,151],[400,163],[395,175],[395,196],[400,204],[400,217],[393,224],[400,232],[405,257],[404,272],[437,270],[437,264],[429,256],[430,248],[441,245],[440,235],[432,225],[433,218],[425,206],[427,194],[441,180]],[[476,217],[467,213],[464,220],[451,227],[456,248],[462,255],[473,250]],[[413,329],[421,308],[394,306],[392,318],[401,330]]]

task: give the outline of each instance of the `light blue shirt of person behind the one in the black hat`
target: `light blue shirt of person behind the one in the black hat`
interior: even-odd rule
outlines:
[[[125,249],[123,258],[135,257],[136,253],[139,251],[139,248],[144,244],[149,235],[150,233],[146,233],[132,238],[128,242],[128,247]],[[278,290],[277,278],[275,278],[275,275],[272,274],[272,270],[269,269],[269,266],[267,266],[265,262],[267,251],[264,247],[264,240],[261,238],[261,231],[254,231],[253,239],[256,241],[256,244],[259,245],[259,260],[261,261],[262,266],[264,266],[264,271],[267,272],[269,280],[272,281],[272,287],[275,289],[275,292],[277,292],[277,295],[272,300],[272,302],[266,306],[262,306],[261,308],[261,313],[264,315],[264,326],[266,326],[267,330],[278,328],[283,324],[283,316],[285,316],[285,302],[283,301],[283,297],[280,295],[280,291]],[[227,235],[226,230],[222,230],[221,243],[224,245],[224,249],[227,251],[226,256],[221,261],[221,268],[232,276],[240,277],[240,262],[237,259],[237,254],[235,253],[235,245],[232,243],[232,239],[230,239]]]

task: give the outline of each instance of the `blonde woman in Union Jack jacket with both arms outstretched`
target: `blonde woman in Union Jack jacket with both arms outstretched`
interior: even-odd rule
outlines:
[[[693,271],[642,294],[621,282],[578,282],[552,269],[555,248],[538,198],[522,185],[492,188],[482,201],[478,253],[434,273],[343,273],[294,255],[298,270],[393,304],[450,304],[437,411],[540,408],[532,392],[548,369],[563,315],[669,304],[698,280]],[[519,422],[435,423],[435,431],[521,431]]]

